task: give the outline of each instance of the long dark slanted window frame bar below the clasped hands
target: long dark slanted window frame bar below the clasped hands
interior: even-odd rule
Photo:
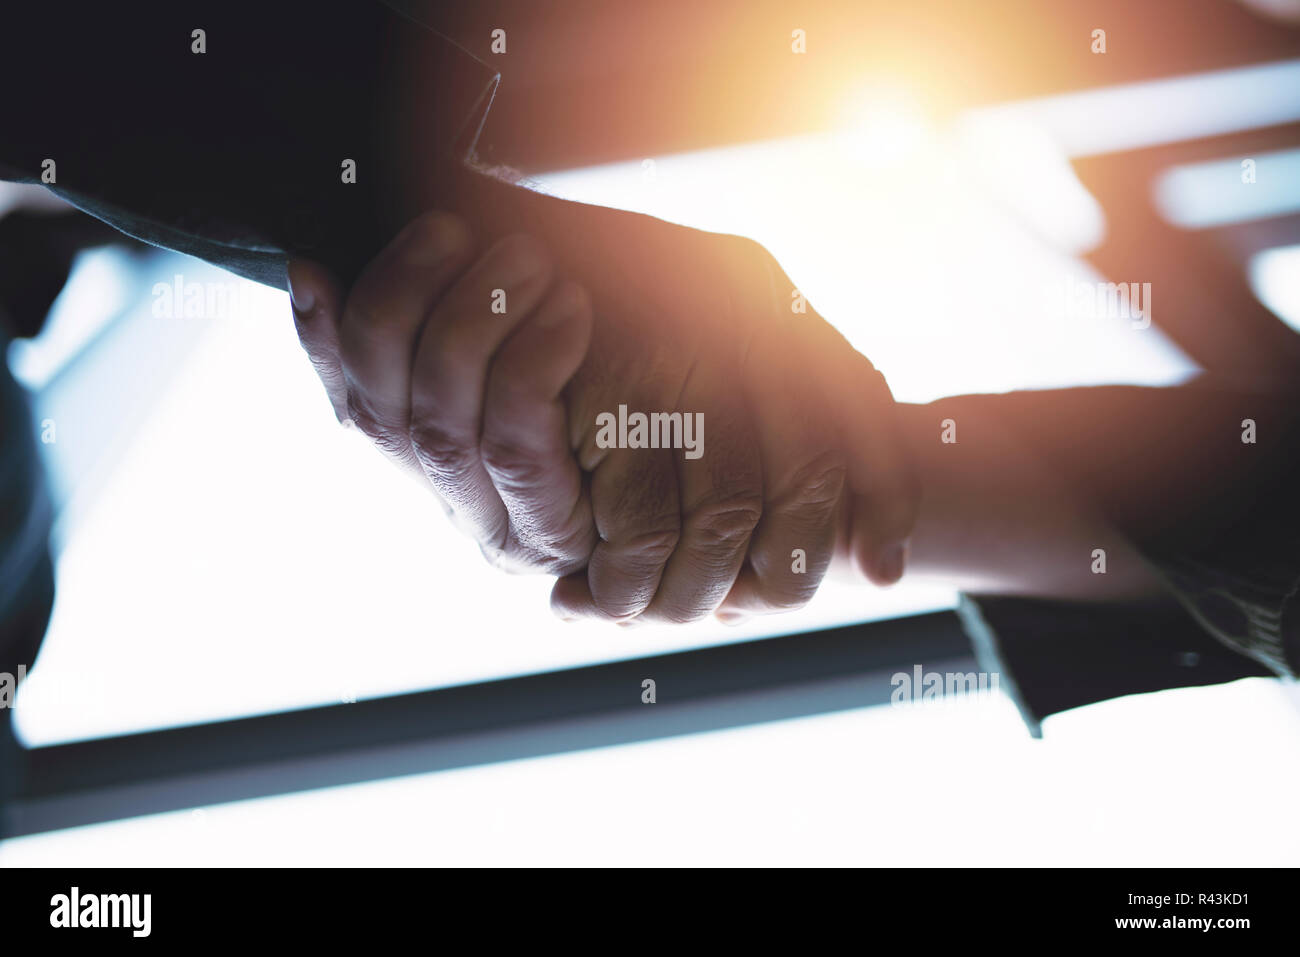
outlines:
[[[883,705],[979,670],[952,611],[23,750],[6,835]],[[655,703],[642,703],[644,679]]]

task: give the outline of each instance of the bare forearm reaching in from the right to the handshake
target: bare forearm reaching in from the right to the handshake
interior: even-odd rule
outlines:
[[[1286,482],[1292,406],[1210,381],[902,406],[924,497],[913,568],[1006,594],[1150,592],[1157,580],[1138,546],[1205,545]],[[956,442],[942,441],[945,420]],[[1243,441],[1247,420],[1253,441]]]

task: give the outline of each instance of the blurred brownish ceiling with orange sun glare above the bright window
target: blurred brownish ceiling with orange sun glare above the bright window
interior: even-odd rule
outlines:
[[[901,86],[941,118],[1300,56],[1300,29],[1238,0],[391,3],[500,70],[481,152],[526,172],[822,129],[870,85]],[[490,49],[495,29],[506,53]],[[1091,51],[1096,29],[1105,55]]]

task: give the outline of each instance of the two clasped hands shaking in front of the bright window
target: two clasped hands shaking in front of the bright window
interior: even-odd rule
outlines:
[[[884,378],[759,244],[476,186],[343,289],[290,264],[334,411],[566,619],[737,620],[904,571],[919,488]],[[703,425],[708,425],[705,445]]]

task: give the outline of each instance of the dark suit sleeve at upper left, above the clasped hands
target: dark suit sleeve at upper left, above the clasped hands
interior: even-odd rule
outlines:
[[[377,0],[16,4],[0,79],[0,177],[52,169],[124,233],[280,287],[290,255],[354,277],[473,150],[497,86]]]

